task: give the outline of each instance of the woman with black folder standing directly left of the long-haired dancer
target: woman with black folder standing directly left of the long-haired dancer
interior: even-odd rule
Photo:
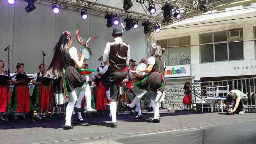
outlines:
[[[39,64],[38,66],[39,72],[33,75],[32,83],[35,85],[33,89],[33,94],[31,97],[31,105],[35,106],[34,110],[36,110],[36,118],[41,119],[42,117],[46,118],[45,113],[49,111],[53,107],[52,103],[52,83],[49,85],[43,84],[43,70],[45,70],[46,66],[44,64]],[[46,73],[44,73],[44,76]],[[41,117],[42,111],[42,117]]]

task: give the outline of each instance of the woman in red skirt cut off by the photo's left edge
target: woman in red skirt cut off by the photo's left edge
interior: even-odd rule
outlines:
[[[0,60],[0,75],[8,75],[7,71],[4,71],[5,63]],[[7,103],[10,103],[11,90],[8,85],[8,81],[3,82],[4,85],[0,85],[0,121],[5,121],[3,114],[6,113]]]

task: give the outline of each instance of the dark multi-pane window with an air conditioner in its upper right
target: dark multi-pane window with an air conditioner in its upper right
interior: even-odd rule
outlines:
[[[200,38],[201,63],[243,59],[242,29],[204,33]]]

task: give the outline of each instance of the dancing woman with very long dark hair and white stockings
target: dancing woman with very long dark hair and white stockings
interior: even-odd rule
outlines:
[[[69,31],[65,31],[54,47],[54,55],[52,62],[47,71],[51,72],[57,78],[62,79],[62,86],[66,99],[69,101],[66,107],[66,123],[64,130],[72,129],[71,117],[77,101],[78,94],[85,91],[87,113],[95,112],[91,108],[91,90],[88,85],[89,76],[81,75],[77,68],[81,68],[85,55],[78,55],[77,49],[71,47],[72,39]],[[70,48],[71,47],[71,48]],[[81,111],[83,112],[83,110]]]

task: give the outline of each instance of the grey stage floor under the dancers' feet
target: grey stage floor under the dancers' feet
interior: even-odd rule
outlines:
[[[72,130],[63,130],[64,118],[54,121],[30,119],[0,122],[2,144],[256,144],[256,113],[225,115],[176,111],[160,113],[161,122],[147,123],[152,114],[143,114],[143,120],[134,115],[118,115],[118,127],[110,128],[107,115],[85,116],[79,124],[73,115]]]

